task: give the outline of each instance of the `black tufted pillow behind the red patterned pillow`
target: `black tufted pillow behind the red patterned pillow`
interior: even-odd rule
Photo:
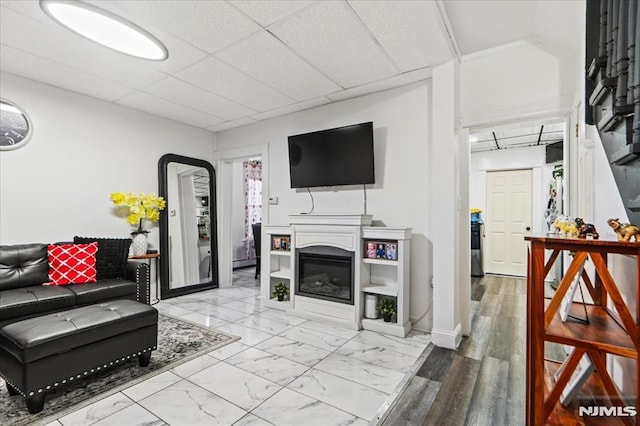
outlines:
[[[126,278],[126,266],[129,258],[130,238],[94,238],[73,237],[76,244],[98,242],[96,268],[98,280]]]

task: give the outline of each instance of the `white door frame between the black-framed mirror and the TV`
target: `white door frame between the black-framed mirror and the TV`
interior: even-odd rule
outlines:
[[[231,238],[232,164],[250,157],[262,157],[262,223],[269,223],[269,144],[234,148],[215,153],[218,169],[218,262],[220,287],[233,284],[233,241]]]

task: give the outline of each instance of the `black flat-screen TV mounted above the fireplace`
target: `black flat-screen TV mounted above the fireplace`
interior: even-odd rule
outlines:
[[[289,136],[292,188],[375,183],[373,122]]]

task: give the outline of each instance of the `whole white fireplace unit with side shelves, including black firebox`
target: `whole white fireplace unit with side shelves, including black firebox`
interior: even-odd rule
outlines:
[[[264,306],[340,327],[405,337],[409,320],[411,228],[372,226],[370,215],[292,215],[290,226],[263,228],[261,298]],[[276,241],[290,241],[282,249]],[[391,242],[393,258],[370,258],[370,242]],[[277,248],[274,248],[277,247]],[[302,262],[301,260],[302,259]],[[348,284],[347,284],[348,283]],[[284,284],[290,296],[273,291]],[[395,298],[397,321],[364,317],[365,296]],[[372,316],[372,315],[370,315]]]

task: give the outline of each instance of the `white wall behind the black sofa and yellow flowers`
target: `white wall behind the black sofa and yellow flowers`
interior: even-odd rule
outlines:
[[[176,153],[213,162],[214,135],[12,74],[3,98],[33,122],[22,148],[0,152],[0,242],[128,237],[109,194],[158,192],[158,160]],[[158,247],[158,228],[150,243]]]

